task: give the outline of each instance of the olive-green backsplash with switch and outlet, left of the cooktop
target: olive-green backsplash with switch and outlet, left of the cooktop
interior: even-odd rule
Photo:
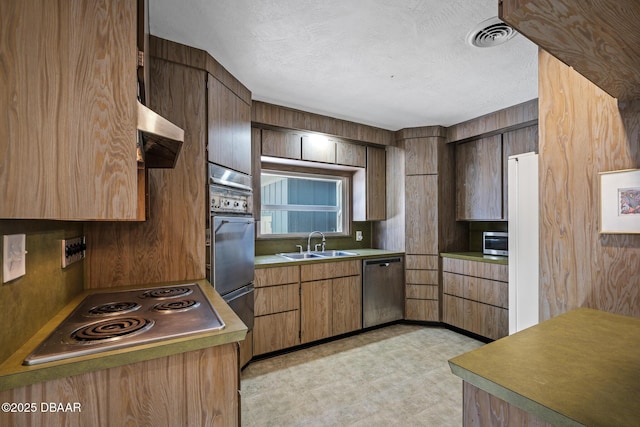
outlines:
[[[62,270],[60,240],[81,236],[83,227],[81,222],[0,220],[0,235],[26,234],[28,252],[26,274],[0,285],[0,324],[5,326],[0,363],[82,292],[84,262]]]

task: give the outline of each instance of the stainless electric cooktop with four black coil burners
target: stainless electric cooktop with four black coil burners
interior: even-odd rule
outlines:
[[[197,283],[96,293],[82,300],[23,364],[85,356],[224,327]]]

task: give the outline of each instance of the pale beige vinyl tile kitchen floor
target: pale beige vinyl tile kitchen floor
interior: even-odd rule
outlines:
[[[395,324],[251,362],[243,426],[461,426],[462,380],[447,360],[483,345]]]

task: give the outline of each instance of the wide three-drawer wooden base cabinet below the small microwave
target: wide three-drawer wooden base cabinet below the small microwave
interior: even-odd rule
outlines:
[[[499,339],[509,334],[509,269],[505,264],[444,258],[442,321]]]

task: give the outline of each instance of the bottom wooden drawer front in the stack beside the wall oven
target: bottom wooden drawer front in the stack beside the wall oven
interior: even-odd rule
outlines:
[[[253,353],[271,353],[300,344],[300,311],[286,311],[255,318]]]

